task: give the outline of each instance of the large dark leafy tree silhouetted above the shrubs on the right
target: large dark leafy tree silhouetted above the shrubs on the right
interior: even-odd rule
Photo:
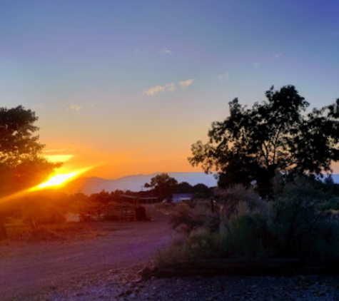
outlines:
[[[192,145],[191,165],[208,173],[216,170],[218,185],[249,186],[255,180],[260,195],[269,196],[275,173],[332,173],[339,160],[339,98],[330,106],[313,108],[294,86],[271,87],[267,101],[253,108],[229,103],[230,116],[212,123],[209,141]]]

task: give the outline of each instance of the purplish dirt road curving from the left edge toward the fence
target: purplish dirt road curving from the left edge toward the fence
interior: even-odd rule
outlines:
[[[173,235],[166,218],[110,223],[116,230],[71,243],[11,244],[0,248],[0,300],[12,300],[86,273],[151,260]]]

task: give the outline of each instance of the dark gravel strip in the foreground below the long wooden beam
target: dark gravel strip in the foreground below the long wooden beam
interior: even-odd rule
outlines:
[[[146,262],[145,262],[146,263]],[[148,262],[149,265],[149,262]],[[60,282],[22,301],[91,300],[339,300],[339,277],[215,276],[138,281],[138,269],[108,270]],[[16,301],[15,300],[15,301]]]

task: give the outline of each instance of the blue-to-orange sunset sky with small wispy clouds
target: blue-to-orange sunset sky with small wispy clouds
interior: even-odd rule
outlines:
[[[339,98],[338,16],[335,0],[2,0],[0,106],[36,112],[63,170],[201,171],[191,145],[233,98]]]

